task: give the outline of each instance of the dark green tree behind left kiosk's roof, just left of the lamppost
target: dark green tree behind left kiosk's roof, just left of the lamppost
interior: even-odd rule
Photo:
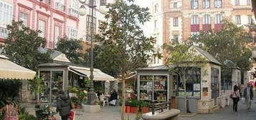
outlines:
[[[74,64],[80,64],[82,57],[82,41],[77,39],[68,39],[67,36],[60,39],[57,43],[57,51],[61,51],[67,56],[67,59]]]

